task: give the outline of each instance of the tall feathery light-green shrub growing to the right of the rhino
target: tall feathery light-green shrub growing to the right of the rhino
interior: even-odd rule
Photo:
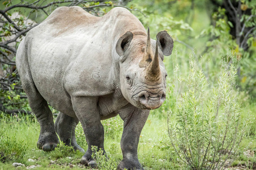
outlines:
[[[232,60],[231,60],[232,61]],[[207,78],[193,58],[184,92],[174,69],[177,108],[170,111],[168,133],[177,155],[192,169],[221,169],[236,153],[242,139],[241,108],[234,88],[236,63],[223,62],[216,86],[209,88]],[[172,119],[171,119],[172,117]]]

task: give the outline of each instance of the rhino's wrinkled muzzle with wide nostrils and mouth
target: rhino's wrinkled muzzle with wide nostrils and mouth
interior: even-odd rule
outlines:
[[[166,93],[161,90],[156,94],[148,91],[141,91],[138,95],[133,97],[138,108],[141,109],[157,109],[159,108],[164,100],[166,100]]]

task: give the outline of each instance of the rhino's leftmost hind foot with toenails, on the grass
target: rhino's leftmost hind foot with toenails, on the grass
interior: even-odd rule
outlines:
[[[59,139],[56,134],[40,134],[37,146],[40,150],[49,152],[53,151],[58,143]]]

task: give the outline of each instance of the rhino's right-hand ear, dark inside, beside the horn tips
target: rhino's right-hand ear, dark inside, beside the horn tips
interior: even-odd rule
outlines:
[[[156,35],[156,39],[164,56],[170,56],[172,54],[172,48],[174,47],[174,40],[168,35],[167,31],[160,31],[158,35]]]

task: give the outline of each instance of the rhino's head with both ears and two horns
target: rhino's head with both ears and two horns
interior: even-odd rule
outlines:
[[[122,94],[140,109],[159,108],[166,99],[167,73],[163,55],[171,55],[174,41],[166,31],[159,32],[156,39],[151,43],[149,29],[147,36],[126,32],[115,48],[121,56]]]

